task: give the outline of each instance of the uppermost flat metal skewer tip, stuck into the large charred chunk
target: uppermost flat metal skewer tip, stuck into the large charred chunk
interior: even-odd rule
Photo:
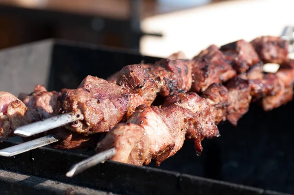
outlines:
[[[24,126],[18,127],[14,131],[14,134],[22,136],[22,137],[29,137],[32,135],[36,135],[38,133],[48,131],[50,129],[57,128],[65,124],[68,124],[70,122],[83,120],[83,119],[84,117],[82,114],[66,113],[66,114],[55,116],[55,117],[51,117],[44,121],[33,122],[33,123],[26,124]]]

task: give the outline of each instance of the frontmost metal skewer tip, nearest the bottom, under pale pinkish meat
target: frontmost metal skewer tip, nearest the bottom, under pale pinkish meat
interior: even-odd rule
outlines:
[[[91,167],[98,165],[99,163],[103,163],[106,160],[109,160],[116,154],[115,147],[95,154],[79,163],[74,164],[71,169],[66,173],[67,177],[73,177],[74,175],[85,171]]]

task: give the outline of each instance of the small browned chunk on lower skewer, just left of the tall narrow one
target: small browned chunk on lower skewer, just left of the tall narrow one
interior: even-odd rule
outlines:
[[[213,83],[201,95],[208,102],[216,124],[226,120],[227,108],[230,105],[228,93],[226,87]]]

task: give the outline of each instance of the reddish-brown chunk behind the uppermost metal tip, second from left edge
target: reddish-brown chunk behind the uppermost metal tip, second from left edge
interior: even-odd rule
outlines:
[[[34,117],[35,121],[48,119],[56,114],[58,109],[57,98],[60,93],[52,91],[48,92],[43,85],[36,85],[33,93],[23,98],[23,94],[19,97],[28,108],[28,112]]]

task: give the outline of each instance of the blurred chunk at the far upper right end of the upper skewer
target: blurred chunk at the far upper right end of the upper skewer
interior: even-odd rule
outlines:
[[[264,63],[281,64],[287,60],[288,42],[280,37],[262,36],[251,41]]]

